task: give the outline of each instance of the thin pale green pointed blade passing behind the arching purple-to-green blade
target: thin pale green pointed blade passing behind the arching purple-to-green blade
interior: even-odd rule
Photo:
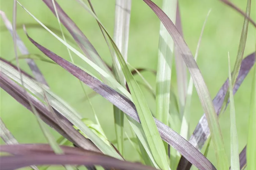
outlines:
[[[208,11],[207,16],[205,18],[205,21],[203,23],[203,27],[202,27],[200,37],[199,37],[197,47],[196,47],[195,61],[197,60],[198,51],[199,51],[201,39],[202,39],[202,36],[203,36],[203,30],[205,28],[206,21],[207,21],[207,18],[209,17],[210,11],[211,10]],[[181,130],[180,130],[180,135],[184,139],[187,139],[189,137],[188,135],[189,135],[189,121],[190,121],[190,109],[191,109],[190,107],[191,107],[192,93],[193,93],[193,80],[192,80],[192,77],[190,76],[189,86],[188,86],[187,95],[186,95],[185,108],[184,108],[184,113],[183,113],[183,117],[182,117]]]

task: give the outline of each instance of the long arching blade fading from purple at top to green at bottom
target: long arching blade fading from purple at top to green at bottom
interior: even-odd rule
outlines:
[[[201,105],[203,106],[203,110],[206,113],[208,125],[212,134],[212,141],[214,145],[214,150],[216,152],[218,168],[219,169],[227,169],[227,157],[224,150],[223,139],[221,136],[221,130],[219,127],[219,122],[217,119],[216,112],[214,110],[214,106],[212,104],[212,100],[210,98],[209,91],[204,82],[202,74],[193,58],[191,51],[189,50],[187,44],[180,36],[178,30],[171,20],[167,17],[167,15],[152,1],[143,0],[154,12],[157,14],[159,19],[162,21],[169,34],[171,34],[176,46],[178,47],[179,52],[182,54],[183,60],[185,61],[191,76],[194,81],[194,85],[198,92],[198,96],[201,101]]]

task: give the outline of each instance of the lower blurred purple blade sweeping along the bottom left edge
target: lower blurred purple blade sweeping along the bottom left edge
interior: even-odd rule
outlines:
[[[74,149],[74,148],[73,148]],[[52,153],[30,154],[30,155],[18,155],[18,156],[1,156],[1,169],[11,170],[21,167],[29,166],[30,164],[37,165],[101,165],[104,167],[114,167],[126,170],[155,170],[153,167],[145,166],[138,163],[118,160],[112,157],[108,157],[103,154],[86,152],[83,155],[55,155]]]

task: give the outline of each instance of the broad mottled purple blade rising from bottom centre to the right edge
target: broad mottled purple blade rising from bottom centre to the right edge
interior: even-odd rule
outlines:
[[[237,76],[237,80],[235,82],[234,88],[233,88],[233,94],[237,92],[240,85],[242,84],[244,78],[249,73],[250,69],[253,67],[255,63],[255,52],[245,57],[241,63],[241,67]],[[225,81],[225,83],[222,85],[221,89],[217,93],[216,97],[213,99],[214,108],[216,111],[216,114],[219,115],[221,111],[221,106],[224,102],[226,93],[228,90],[228,79]],[[228,100],[229,103],[229,100]],[[228,103],[225,106],[228,106]],[[210,130],[208,127],[207,119],[205,114],[200,118],[192,136],[189,139],[189,142],[198,150],[201,150],[203,145],[205,144],[205,141],[210,135]],[[190,169],[191,163],[187,161],[184,157],[181,157],[179,165],[177,167],[178,170],[185,170]]]

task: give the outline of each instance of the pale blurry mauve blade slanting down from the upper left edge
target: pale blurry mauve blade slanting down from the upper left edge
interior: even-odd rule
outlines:
[[[0,11],[0,14],[1,14],[1,17],[3,18],[3,21],[4,21],[4,24],[5,24],[6,28],[9,30],[9,32],[13,36],[14,32],[13,32],[13,28],[12,28],[12,23],[8,20],[8,18],[6,17],[6,15],[3,11]],[[29,55],[30,53],[28,52],[28,49],[26,48],[26,46],[22,42],[22,40],[19,38],[19,35],[17,34],[16,31],[15,31],[15,34],[16,34],[17,46],[18,46],[20,52],[22,53],[22,55]],[[30,70],[32,71],[35,79],[38,82],[48,86],[46,80],[44,79],[43,74],[41,73],[41,71],[37,67],[34,60],[33,59],[26,59],[26,62],[28,63],[28,66],[30,67]]]

